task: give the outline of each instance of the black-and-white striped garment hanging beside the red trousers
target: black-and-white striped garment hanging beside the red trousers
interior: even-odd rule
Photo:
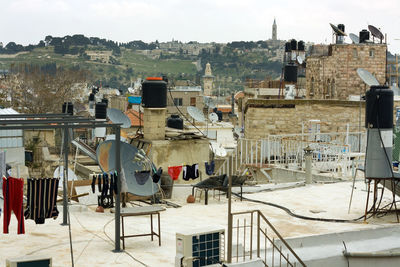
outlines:
[[[25,219],[44,224],[45,219],[57,219],[57,194],[59,178],[28,178]]]

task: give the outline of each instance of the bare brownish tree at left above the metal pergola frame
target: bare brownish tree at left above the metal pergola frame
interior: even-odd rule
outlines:
[[[87,73],[60,67],[53,73],[45,69],[32,65],[12,67],[12,74],[3,84],[11,96],[11,107],[24,113],[47,113],[60,112],[64,102],[78,102],[79,92],[73,88],[86,82]]]

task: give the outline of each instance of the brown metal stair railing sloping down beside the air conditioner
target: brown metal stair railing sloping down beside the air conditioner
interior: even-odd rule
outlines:
[[[236,219],[232,227],[236,232],[230,233],[234,244],[228,262],[260,258],[265,266],[306,266],[261,211],[234,212],[230,216],[233,222]]]

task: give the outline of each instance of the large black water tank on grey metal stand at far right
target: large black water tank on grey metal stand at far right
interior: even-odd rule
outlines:
[[[387,86],[371,86],[365,97],[365,127],[393,128],[393,91]]]

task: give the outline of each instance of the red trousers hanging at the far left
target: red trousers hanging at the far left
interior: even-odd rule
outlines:
[[[13,211],[18,220],[18,234],[25,234],[23,196],[24,179],[3,177],[3,233],[8,234],[8,225],[10,224],[11,211]]]

